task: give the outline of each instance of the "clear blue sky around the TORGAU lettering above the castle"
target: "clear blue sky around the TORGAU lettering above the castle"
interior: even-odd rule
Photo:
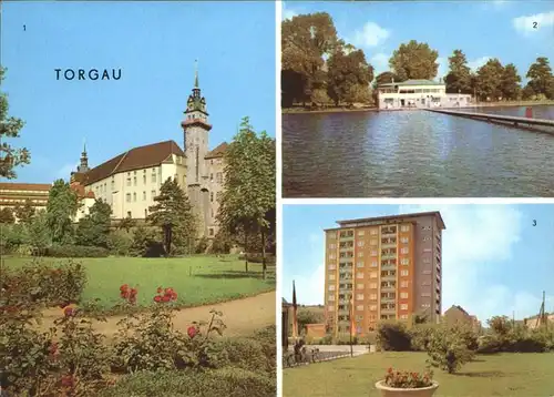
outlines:
[[[10,1],[2,13],[2,91],[27,122],[17,145],[32,156],[21,182],[69,177],[83,139],[91,165],[142,144],[183,146],[195,59],[211,149],[245,115],[275,136],[274,2]],[[121,68],[122,78],[57,81],[58,68]]]

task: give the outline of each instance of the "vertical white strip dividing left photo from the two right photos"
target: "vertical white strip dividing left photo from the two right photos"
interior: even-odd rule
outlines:
[[[276,205],[277,205],[277,261],[275,268],[275,328],[277,330],[277,396],[283,396],[283,329],[281,329],[281,269],[283,269],[283,198],[281,198],[281,110],[280,110],[280,22],[283,4],[275,1],[275,138],[276,138]]]

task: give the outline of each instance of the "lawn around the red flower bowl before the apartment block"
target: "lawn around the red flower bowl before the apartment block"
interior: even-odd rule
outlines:
[[[379,396],[388,367],[424,370],[425,353],[378,353],[285,369],[284,397]],[[433,397],[554,396],[554,353],[480,355],[459,374],[434,370]]]

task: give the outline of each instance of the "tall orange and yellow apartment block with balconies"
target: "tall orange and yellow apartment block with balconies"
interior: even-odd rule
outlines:
[[[325,315],[334,335],[376,329],[379,320],[411,323],[441,314],[439,212],[338,221],[326,230]],[[353,314],[353,322],[350,320]]]

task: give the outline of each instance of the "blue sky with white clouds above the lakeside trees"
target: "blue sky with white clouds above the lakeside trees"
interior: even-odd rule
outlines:
[[[455,49],[472,69],[499,58],[514,63],[522,78],[540,55],[554,62],[552,1],[287,1],[283,19],[311,12],[328,12],[339,37],[362,49],[377,73],[388,70],[392,52],[410,40],[439,52],[438,78],[448,72]]]

